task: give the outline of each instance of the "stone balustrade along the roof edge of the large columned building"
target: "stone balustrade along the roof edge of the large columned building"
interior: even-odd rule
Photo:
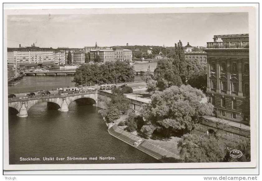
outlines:
[[[207,42],[207,49],[249,49],[249,41]]]

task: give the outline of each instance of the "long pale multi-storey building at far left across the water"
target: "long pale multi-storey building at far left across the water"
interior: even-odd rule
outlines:
[[[19,48],[7,48],[7,54],[7,64],[12,64],[13,67],[53,62],[53,49],[36,47],[35,44],[31,47],[19,45]]]

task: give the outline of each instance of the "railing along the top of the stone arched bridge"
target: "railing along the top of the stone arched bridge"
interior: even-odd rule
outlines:
[[[58,98],[58,97],[68,97],[74,95],[85,95],[85,94],[94,94],[96,90],[91,91],[81,91],[81,92],[69,92],[62,94],[48,94],[48,95],[34,95],[34,96],[25,96],[25,97],[14,97],[8,98],[8,102],[17,102],[17,101],[26,101],[26,100],[37,100],[37,99],[50,99],[50,98]]]

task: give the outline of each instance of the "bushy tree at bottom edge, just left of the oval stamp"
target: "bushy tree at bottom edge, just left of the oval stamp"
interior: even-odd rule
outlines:
[[[179,140],[183,162],[222,162],[227,153],[226,144],[213,135],[186,134]]]

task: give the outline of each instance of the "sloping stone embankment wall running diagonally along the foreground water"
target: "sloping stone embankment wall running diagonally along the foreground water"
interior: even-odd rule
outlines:
[[[145,139],[133,135],[130,132],[126,132],[120,129],[117,125],[113,125],[108,129],[108,132],[113,137],[129,144],[130,146],[135,147],[136,149],[146,153],[147,155],[152,156],[153,158],[160,160],[165,163],[176,163],[179,162],[179,155],[168,151],[160,146],[157,146],[151,142],[146,141]]]

